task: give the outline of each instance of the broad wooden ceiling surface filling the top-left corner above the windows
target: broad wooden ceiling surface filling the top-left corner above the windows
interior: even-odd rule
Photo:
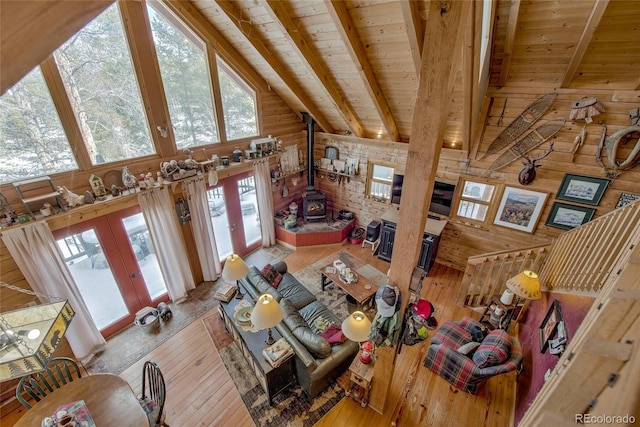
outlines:
[[[0,94],[113,1],[0,1]]]

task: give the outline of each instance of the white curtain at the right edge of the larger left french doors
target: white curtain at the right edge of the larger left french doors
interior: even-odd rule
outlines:
[[[169,297],[180,302],[195,288],[187,251],[178,231],[178,218],[168,187],[138,193],[138,203],[156,249]]]

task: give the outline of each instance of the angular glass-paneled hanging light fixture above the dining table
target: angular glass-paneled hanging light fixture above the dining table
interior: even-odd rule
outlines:
[[[43,370],[74,315],[66,300],[0,314],[0,381]]]

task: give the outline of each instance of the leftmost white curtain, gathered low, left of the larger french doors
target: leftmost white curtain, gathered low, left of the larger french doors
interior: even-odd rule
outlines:
[[[76,314],[65,336],[75,357],[83,359],[99,350],[106,341],[89,314],[49,225],[40,221],[6,230],[2,240],[35,292],[67,299],[71,304]]]

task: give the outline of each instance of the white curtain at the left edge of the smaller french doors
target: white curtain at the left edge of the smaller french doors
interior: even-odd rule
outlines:
[[[193,237],[196,241],[198,258],[202,266],[202,275],[204,280],[217,280],[220,277],[220,273],[222,273],[222,268],[220,267],[218,246],[213,233],[213,223],[209,213],[209,201],[204,178],[189,179],[183,182],[182,185],[189,202]]]

